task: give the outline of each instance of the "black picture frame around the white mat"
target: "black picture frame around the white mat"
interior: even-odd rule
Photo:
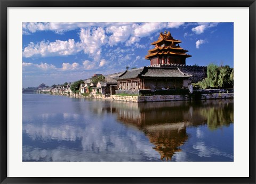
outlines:
[[[255,183],[255,0],[0,0],[1,5],[1,183]],[[248,178],[11,178],[7,177],[7,7],[249,7],[250,22],[250,177]],[[243,168],[241,168],[243,169]]]

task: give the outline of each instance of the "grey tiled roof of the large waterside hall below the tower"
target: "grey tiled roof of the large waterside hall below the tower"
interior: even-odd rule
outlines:
[[[139,69],[128,70],[123,76],[119,77],[117,80],[122,79],[133,79],[137,77],[178,77],[178,78],[188,78],[191,75],[182,73],[179,68],[154,68],[154,67],[143,67]]]

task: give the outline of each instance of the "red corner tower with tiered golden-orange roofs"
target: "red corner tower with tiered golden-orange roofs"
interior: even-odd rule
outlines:
[[[182,64],[186,65],[186,58],[191,55],[186,54],[187,50],[180,47],[181,41],[174,39],[170,31],[161,32],[157,41],[151,43],[155,48],[148,51],[145,56],[150,60],[150,65],[155,64]],[[177,45],[178,44],[178,45]]]

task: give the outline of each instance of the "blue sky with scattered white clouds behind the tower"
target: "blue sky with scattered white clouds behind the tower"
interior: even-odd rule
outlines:
[[[48,86],[150,65],[160,32],[192,57],[187,65],[234,66],[233,22],[23,22],[22,87]]]

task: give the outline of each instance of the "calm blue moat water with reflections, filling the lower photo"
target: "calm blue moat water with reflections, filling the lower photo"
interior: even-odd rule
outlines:
[[[22,96],[28,162],[234,160],[233,99],[110,102]]]

